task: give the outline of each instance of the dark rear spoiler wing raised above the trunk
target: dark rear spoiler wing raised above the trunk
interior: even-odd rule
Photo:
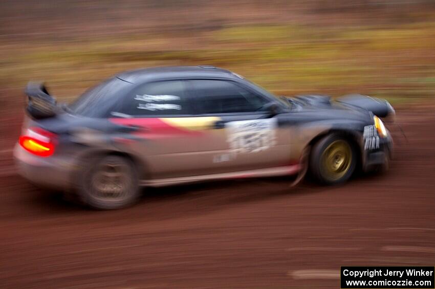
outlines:
[[[56,115],[56,99],[52,97],[43,82],[29,82],[24,91],[28,97],[26,112],[34,119]]]

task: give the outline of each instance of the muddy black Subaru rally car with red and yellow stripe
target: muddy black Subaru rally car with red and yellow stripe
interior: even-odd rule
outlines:
[[[385,168],[393,148],[385,100],[276,97],[213,66],[124,72],[69,105],[44,84],[26,94],[19,172],[98,209],[132,204],[142,186],[307,171],[341,184],[358,168]]]

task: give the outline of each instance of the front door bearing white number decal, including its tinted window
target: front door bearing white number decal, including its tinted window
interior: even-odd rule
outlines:
[[[202,117],[219,118],[198,143],[203,174],[285,166],[290,162],[290,132],[261,111],[271,102],[231,80],[189,80],[193,108]]]

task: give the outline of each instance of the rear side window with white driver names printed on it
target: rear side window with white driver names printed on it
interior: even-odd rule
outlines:
[[[186,98],[183,80],[148,82],[126,96],[119,112],[130,116],[187,115]]]

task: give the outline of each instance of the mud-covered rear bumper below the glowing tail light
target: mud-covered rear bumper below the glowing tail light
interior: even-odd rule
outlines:
[[[31,183],[52,189],[71,188],[71,173],[74,165],[54,155],[41,158],[31,154],[19,144],[14,147],[15,166],[18,173]]]

